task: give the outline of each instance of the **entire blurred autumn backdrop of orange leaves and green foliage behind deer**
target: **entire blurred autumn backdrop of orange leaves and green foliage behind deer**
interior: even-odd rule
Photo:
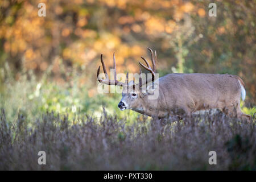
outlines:
[[[46,16],[38,16],[38,4]],[[0,0],[0,107],[9,119],[43,111],[101,113],[118,117],[118,94],[98,94],[100,54],[117,72],[139,72],[147,47],[158,53],[157,70],[167,73],[229,73],[246,84],[243,111],[255,113],[256,1]]]

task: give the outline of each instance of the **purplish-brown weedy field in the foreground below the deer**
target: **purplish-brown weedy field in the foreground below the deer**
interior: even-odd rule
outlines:
[[[255,117],[250,123],[221,113],[179,122],[138,117],[127,125],[105,111],[98,119],[46,113],[35,121],[20,114],[10,126],[2,110],[0,123],[2,170],[256,169]],[[46,165],[38,164],[42,150]],[[216,151],[216,165],[208,163],[209,151]]]

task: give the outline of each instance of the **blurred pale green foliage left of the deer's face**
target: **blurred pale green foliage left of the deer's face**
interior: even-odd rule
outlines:
[[[116,114],[118,118],[127,117],[127,122],[133,122],[138,117],[134,111],[120,111],[117,107],[121,100],[121,94],[97,94],[89,97],[88,85],[79,85],[79,76],[76,69],[72,73],[72,84],[65,82],[58,84],[52,81],[51,77],[44,73],[41,78],[36,78],[34,73],[23,73],[18,81],[13,79],[11,70],[6,65],[5,69],[0,69],[5,75],[5,85],[0,92],[0,107],[5,108],[7,118],[14,122],[16,114],[26,115],[28,119],[40,117],[46,111],[55,111],[60,114],[68,114],[75,117],[76,114],[83,113],[100,117],[103,107],[109,114]],[[9,74],[9,75],[8,75]]]

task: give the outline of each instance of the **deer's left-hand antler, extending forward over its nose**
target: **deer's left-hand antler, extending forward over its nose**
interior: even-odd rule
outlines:
[[[97,78],[98,78],[98,81],[101,82],[102,84],[107,84],[107,85],[119,85],[119,86],[125,86],[126,84],[123,83],[123,82],[120,82],[120,81],[117,81],[117,68],[116,68],[116,65],[115,65],[115,53],[113,54],[113,68],[114,68],[114,80],[109,80],[109,75],[108,75],[108,72],[106,72],[106,67],[105,67],[105,64],[104,64],[104,60],[102,58],[102,54],[101,54],[101,64],[102,64],[102,68],[103,68],[103,71],[105,73],[105,80],[102,80],[98,77],[98,75],[100,74],[100,69],[101,69],[101,66],[98,67],[98,71],[97,71]],[[128,73],[127,73],[128,74]],[[126,78],[127,79],[127,78]]]

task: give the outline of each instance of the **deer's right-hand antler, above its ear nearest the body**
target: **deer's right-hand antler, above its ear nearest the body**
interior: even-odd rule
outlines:
[[[151,62],[152,62],[152,67],[153,68],[150,67],[150,64],[148,64],[147,60],[144,59],[144,57],[141,57],[141,58],[145,61],[147,66],[142,64],[141,62],[139,62],[139,64],[143,68],[145,68],[147,71],[150,71],[150,73],[152,74],[152,80],[151,81],[154,81],[155,80],[155,72],[156,72],[156,66],[155,66],[156,65],[156,51],[155,51],[155,54],[153,54],[152,49],[150,49],[150,48],[147,48],[147,49],[150,51],[150,54],[151,54]],[[141,70],[140,70],[140,74],[141,74]],[[146,80],[146,84],[148,83],[148,81],[149,80]],[[142,84],[141,79],[140,79],[139,86],[141,87],[142,85],[143,84]]]

